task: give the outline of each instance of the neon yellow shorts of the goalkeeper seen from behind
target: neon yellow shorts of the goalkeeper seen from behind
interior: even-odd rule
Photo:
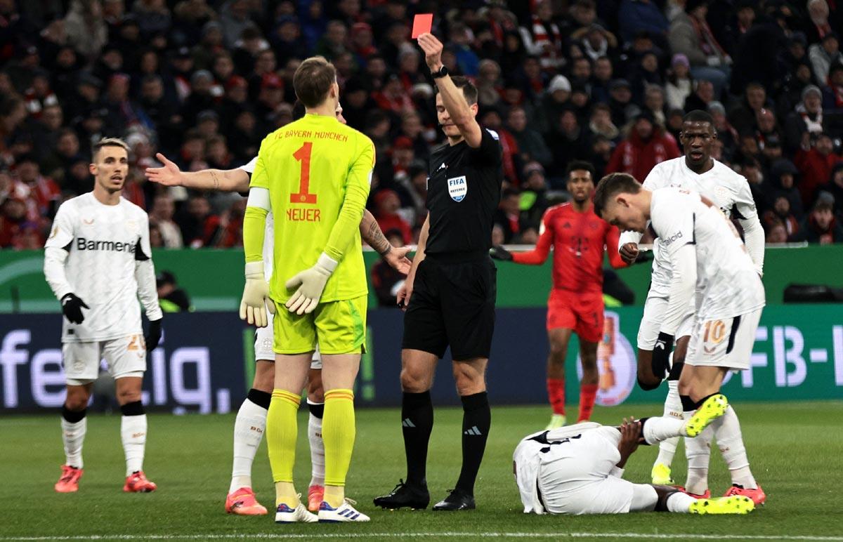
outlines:
[[[277,354],[313,351],[323,354],[359,354],[366,344],[368,296],[319,303],[310,314],[291,313],[275,303],[272,350]]]

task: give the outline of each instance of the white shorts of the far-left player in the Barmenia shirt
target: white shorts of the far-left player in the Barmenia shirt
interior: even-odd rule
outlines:
[[[62,344],[64,377],[71,386],[90,384],[99,376],[99,360],[108,363],[114,378],[142,377],[147,370],[147,347],[143,335],[120,339]]]

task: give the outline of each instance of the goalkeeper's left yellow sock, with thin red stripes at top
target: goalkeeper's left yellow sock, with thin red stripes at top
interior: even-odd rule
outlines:
[[[300,401],[298,394],[274,389],[266,415],[266,448],[269,451],[272,480],[276,483],[276,504],[283,502],[289,507],[298,505],[298,495],[293,487],[293,464],[296,463],[296,413]]]

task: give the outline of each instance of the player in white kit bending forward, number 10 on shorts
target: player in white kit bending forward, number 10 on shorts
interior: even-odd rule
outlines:
[[[649,191],[630,175],[610,174],[600,181],[594,204],[607,222],[637,232],[650,228],[661,239],[671,280],[660,335],[672,339],[696,300],[685,368],[679,377],[683,416],[689,416],[701,401],[719,394],[727,371],[749,369],[765,304],[758,268],[732,222],[713,201],[695,192],[673,187]],[[740,423],[731,406],[702,439],[686,443],[690,447],[712,435],[732,476],[726,495],[765,502],[764,491],[749,470]],[[707,491],[708,462],[694,464],[695,458],[689,450],[685,489],[699,495]]]

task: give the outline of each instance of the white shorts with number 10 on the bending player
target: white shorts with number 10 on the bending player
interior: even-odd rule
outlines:
[[[700,320],[694,325],[694,333],[688,344],[685,363],[694,366],[725,367],[733,371],[749,368],[755,330],[761,319],[761,311],[741,314],[734,318]]]

